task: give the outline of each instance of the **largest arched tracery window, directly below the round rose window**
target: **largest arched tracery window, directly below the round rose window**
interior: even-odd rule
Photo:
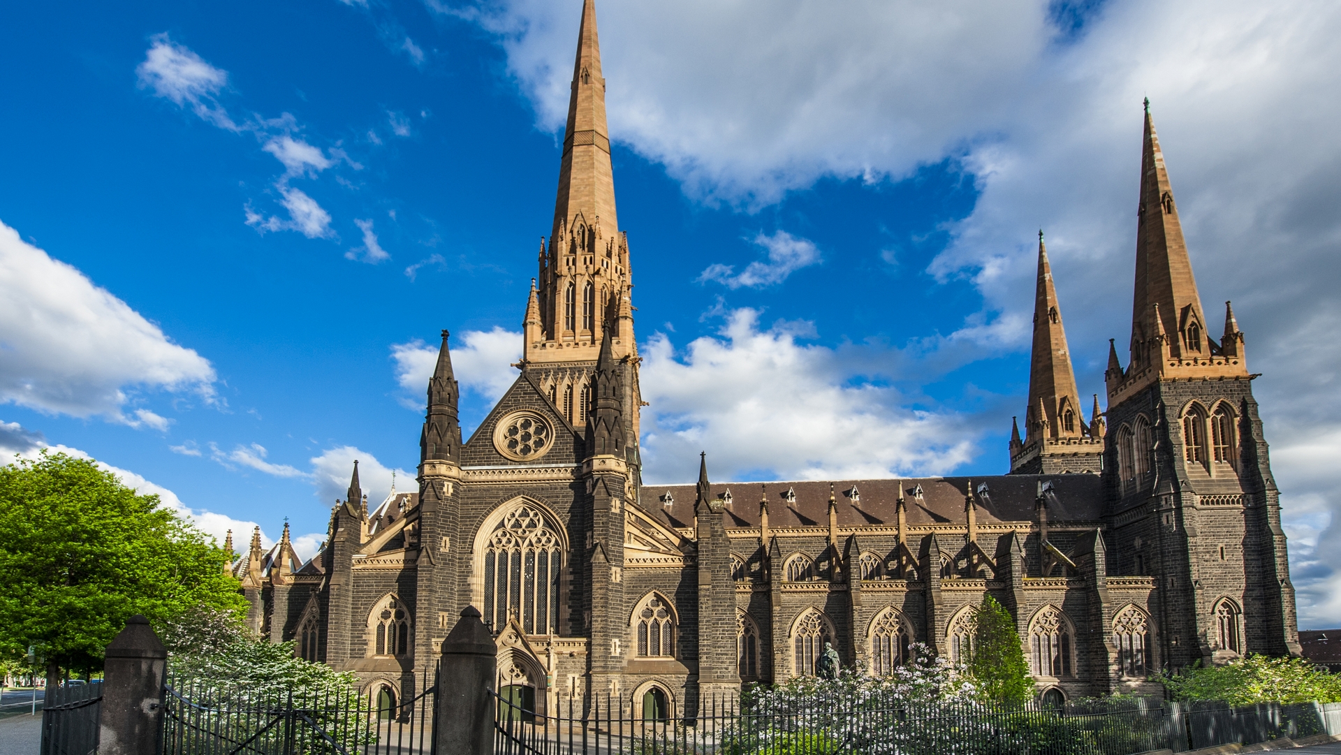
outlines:
[[[495,634],[510,618],[527,634],[558,630],[563,547],[557,532],[528,503],[504,515],[489,532],[484,547],[484,621],[493,624]]]

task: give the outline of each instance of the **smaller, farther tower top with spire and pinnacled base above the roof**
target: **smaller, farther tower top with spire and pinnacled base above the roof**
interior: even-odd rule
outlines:
[[[1097,401],[1097,398],[1096,398]],[[1096,404],[1097,414],[1097,404]],[[1075,373],[1066,346],[1062,310],[1057,303],[1053,267],[1047,262],[1043,232],[1038,232],[1038,283],[1034,287],[1034,350],[1029,370],[1026,436],[1011,428],[1012,475],[1098,473],[1102,468],[1104,425],[1085,422]]]

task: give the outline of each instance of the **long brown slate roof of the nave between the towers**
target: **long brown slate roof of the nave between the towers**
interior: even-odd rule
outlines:
[[[898,480],[831,480],[838,503],[839,527],[880,527],[897,524],[896,502],[904,489],[908,524],[963,524],[964,495],[970,483],[975,493],[987,484],[978,499],[978,523],[1030,522],[1035,519],[1034,500],[1038,484],[1051,483],[1047,520],[1094,522],[1102,514],[1104,496],[1098,475],[996,475],[982,477],[912,477]],[[731,491],[731,504],[724,512],[727,527],[759,526],[759,499],[768,496],[768,527],[827,527],[830,480],[774,483],[713,483],[712,495],[721,498]],[[916,496],[917,488],[921,496]],[[853,499],[856,488],[856,500]],[[795,502],[789,503],[791,489]],[[669,493],[669,506],[666,496]],[[642,508],[669,527],[693,526],[695,485],[642,485]]]

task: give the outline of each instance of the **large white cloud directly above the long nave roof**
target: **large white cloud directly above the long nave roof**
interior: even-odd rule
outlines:
[[[760,330],[758,312],[735,310],[720,337],[680,354],[652,337],[641,370],[649,481],[691,479],[699,451],[716,479],[935,475],[971,459],[966,422],[905,409],[834,350],[797,343],[813,326],[795,325]]]

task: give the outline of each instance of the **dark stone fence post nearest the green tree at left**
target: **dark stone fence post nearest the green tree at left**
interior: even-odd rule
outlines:
[[[168,649],[149,628],[149,620],[135,614],[107,645],[105,658],[98,752],[158,752]]]

